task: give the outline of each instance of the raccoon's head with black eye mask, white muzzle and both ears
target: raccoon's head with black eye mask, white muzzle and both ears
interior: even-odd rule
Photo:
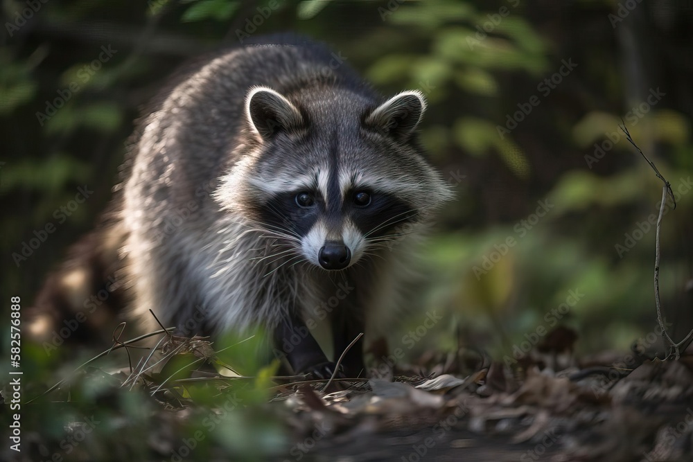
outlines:
[[[425,107],[408,91],[377,107],[331,94],[301,100],[299,109],[271,89],[252,89],[254,142],[218,199],[279,242],[283,254],[273,256],[345,269],[411,232],[450,195],[413,140]]]

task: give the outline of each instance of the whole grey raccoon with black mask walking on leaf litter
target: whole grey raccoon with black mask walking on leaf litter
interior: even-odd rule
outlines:
[[[103,231],[119,236],[132,312],[212,337],[263,326],[292,371],[331,375],[315,321],[328,312],[340,355],[395,310],[451,197],[417,140],[425,110],[421,92],[382,98],[297,37],[216,53],[177,78],[139,122]],[[338,372],[365,373],[363,339]]]

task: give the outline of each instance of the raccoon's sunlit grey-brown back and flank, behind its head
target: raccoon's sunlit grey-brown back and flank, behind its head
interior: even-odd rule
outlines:
[[[252,310],[239,307],[270,306],[263,295],[269,279],[256,274],[262,267],[238,258],[258,247],[257,236],[213,199],[220,179],[258,143],[245,114],[247,94],[258,86],[299,106],[301,98],[344,90],[372,98],[358,75],[319,44],[233,48],[178,75],[139,124],[122,188],[125,284],[133,288],[134,310],[166,307],[157,314],[169,324],[189,319],[196,305],[212,307],[210,317],[235,307],[234,321],[243,324]]]

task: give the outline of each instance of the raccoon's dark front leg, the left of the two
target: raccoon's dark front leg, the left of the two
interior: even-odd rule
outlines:
[[[328,361],[306,323],[296,314],[284,317],[274,330],[274,345],[281,350],[294,373],[331,377],[334,363]]]

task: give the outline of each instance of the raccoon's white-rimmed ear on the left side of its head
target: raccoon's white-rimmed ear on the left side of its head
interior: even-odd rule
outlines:
[[[245,98],[245,116],[252,132],[266,139],[277,130],[292,130],[304,125],[301,113],[277,91],[254,87]]]

